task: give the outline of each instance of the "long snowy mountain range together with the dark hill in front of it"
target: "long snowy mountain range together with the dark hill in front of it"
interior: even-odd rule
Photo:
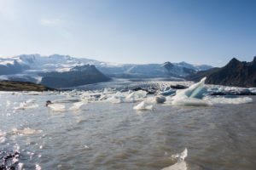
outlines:
[[[90,67],[90,65],[94,66]],[[84,71],[78,70],[81,68],[84,68]],[[61,88],[61,86],[70,87],[83,83],[104,82],[109,80],[108,77],[186,77],[210,68],[212,68],[210,65],[191,65],[185,62],[166,62],[164,64],[147,65],[115,64],[95,59],[73,58],[68,55],[59,54],[49,56],[22,54],[14,57],[2,57],[0,59],[0,79],[38,82],[48,85],[51,88]],[[93,72],[94,74],[92,74]],[[75,75],[80,75],[80,79]],[[92,78],[92,75],[94,78]],[[77,78],[61,83],[61,80],[63,81],[61,77]],[[57,83],[57,80],[60,82]]]

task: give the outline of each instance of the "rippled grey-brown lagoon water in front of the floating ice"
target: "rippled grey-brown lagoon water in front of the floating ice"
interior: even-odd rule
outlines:
[[[188,156],[177,169],[256,167],[255,96],[250,102],[239,97],[236,104],[215,98],[208,106],[152,103],[147,105],[154,109],[144,111],[133,108],[145,96],[84,105],[78,104],[85,98],[79,92],[0,96],[3,169],[154,170],[177,165],[173,155],[185,148]],[[47,100],[55,101],[55,110],[45,106]]]

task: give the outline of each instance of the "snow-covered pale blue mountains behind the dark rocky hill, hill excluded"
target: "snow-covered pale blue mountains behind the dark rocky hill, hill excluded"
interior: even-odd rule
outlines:
[[[108,77],[186,77],[197,71],[212,68],[210,65],[190,65],[185,62],[164,64],[114,64],[95,59],[73,58],[68,55],[53,54],[41,56],[39,54],[22,54],[14,57],[0,58],[1,79],[25,79],[40,82],[38,73],[49,71],[70,71],[73,67],[81,65],[95,65]]]

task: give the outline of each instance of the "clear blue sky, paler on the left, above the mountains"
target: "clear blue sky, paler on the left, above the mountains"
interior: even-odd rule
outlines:
[[[223,66],[256,55],[253,0],[0,0],[0,57]]]

